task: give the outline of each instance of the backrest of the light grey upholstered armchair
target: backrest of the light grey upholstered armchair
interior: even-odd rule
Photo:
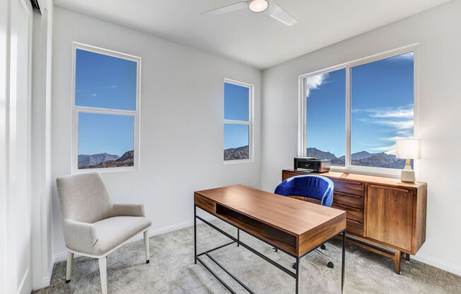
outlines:
[[[94,223],[110,217],[112,201],[99,172],[58,177],[56,183],[63,220]]]

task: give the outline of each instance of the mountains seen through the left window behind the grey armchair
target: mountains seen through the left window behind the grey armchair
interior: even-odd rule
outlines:
[[[82,161],[80,160],[82,156]],[[83,161],[86,160],[86,161]],[[101,160],[101,161],[99,161]],[[99,162],[98,162],[99,161]],[[81,165],[89,163],[88,165]],[[122,156],[107,153],[93,155],[78,155],[78,169],[124,167],[134,165],[134,151],[127,151]]]

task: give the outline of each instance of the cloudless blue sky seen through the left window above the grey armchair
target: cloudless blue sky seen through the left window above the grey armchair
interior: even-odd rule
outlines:
[[[77,106],[136,110],[136,62],[77,49]],[[80,112],[78,154],[133,150],[134,117]]]

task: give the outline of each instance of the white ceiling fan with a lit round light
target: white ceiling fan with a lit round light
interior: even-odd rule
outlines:
[[[298,23],[298,20],[291,16],[290,13],[284,11],[284,9],[270,0],[245,0],[216,8],[211,11],[206,11],[204,13],[221,14],[243,9],[250,9],[250,11],[255,13],[266,13],[275,20],[279,20],[279,22],[290,27]]]

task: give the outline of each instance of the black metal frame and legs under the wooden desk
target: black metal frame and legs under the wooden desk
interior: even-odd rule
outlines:
[[[237,228],[237,238],[233,237],[232,235],[229,235],[228,233],[224,232],[223,230],[221,230],[220,228],[216,227],[216,225],[213,225],[212,223],[209,223],[209,221],[207,220],[204,220],[204,218],[202,218],[201,216],[197,216],[197,205],[194,204],[194,264],[197,264],[197,260],[205,267],[205,269],[207,269],[216,279],[218,279],[218,281],[223,284],[224,287],[226,287],[230,293],[233,293],[233,294],[236,294],[235,291],[230,288],[230,286],[228,286],[228,284],[223,281],[209,266],[207,266],[205,264],[205,262],[200,258],[202,257],[202,255],[206,255],[206,257],[208,257],[209,259],[211,259],[211,261],[213,261],[216,265],[218,265],[223,271],[226,272],[226,274],[228,274],[231,278],[233,278],[237,283],[240,284],[240,286],[242,286],[243,288],[245,288],[245,290],[247,290],[249,293],[252,293],[252,294],[255,294],[255,292],[253,292],[250,288],[248,288],[248,286],[245,285],[245,283],[243,283],[242,281],[240,281],[236,276],[234,276],[233,274],[230,273],[230,271],[228,271],[227,269],[225,269],[218,261],[216,261],[216,259],[214,259],[213,257],[211,257],[211,255],[209,254],[210,252],[213,252],[217,249],[221,249],[223,247],[226,247],[228,245],[231,245],[231,244],[234,244],[234,243],[237,243],[237,246],[240,246],[242,245],[243,247],[245,247],[246,249],[250,250],[250,252],[256,254],[258,257],[261,257],[262,259],[264,259],[265,261],[269,262],[269,264],[272,264],[274,266],[276,266],[278,269],[281,269],[281,271],[284,271],[286,274],[288,274],[289,276],[292,276],[293,278],[296,279],[296,294],[299,293],[299,261],[302,257],[304,257],[305,255],[309,254],[310,252],[313,252],[314,249],[311,249],[309,252],[306,252],[305,254],[303,254],[302,256],[300,257],[297,257],[296,255],[294,254],[291,254],[291,253],[288,253],[286,252],[284,249],[281,249],[281,248],[278,248],[276,246],[274,246],[273,244],[271,244],[270,242],[267,242],[265,240],[262,240],[261,238],[253,235],[252,233],[249,233],[247,232],[247,230],[243,230],[241,228],[238,228],[237,226],[233,225],[232,223],[229,223],[227,220],[224,220],[223,218],[219,217],[219,216],[216,216],[212,213],[210,213],[212,216],[216,216],[217,218],[223,220],[224,222],[228,223],[229,225],[232,225],[233,227]],[[199,207],[200,208],[200,207]],[[202,209],[202,211],[204,211]],[[207,213],[209,213],[208,211],[206,211]],[[217,230],[219,233],[225,235],[226,237],[228,237],[230,240],[232,240],[232,242],[228,242],[224,245],[221,245],[221,246],[218,246],[218,247],[214,247],[212,249],[209,249],[209,250],[206,250],[205,252],[202,252],[202,253],[199,253],[197,254],[197,218],[199,220],[202,220],[202,222],[206,223],[207,225],[209,225],[211,228],[214,228],[215,230]],[[258,240],[261,240],[262,242],[268,244],[268,245],[271,245],[272,247],[276,247],[277,249],[279,249],[281,252],[284,252],[286,254],[288,254],[289,256],[293,257],[296,259],[296,270],[295,272],[293,273],[293,271],[287,269],[285,266],[282,266],[281,264],[277,263],[276,261],[273,261],[272,259],[270,259],[269,257],[265,256],[264,254],[258,252],[257,250],[253,249],[252,247],[246,245],[245,243],[243,243],[242,241],[240,241],[240,230],[243,230],[245,233],[247,233],[248,235],[251,235],[252,237],[255,237],[257,238]],[[342,233],[339,233],[338,235],[330,238],[329,240],[332,240],[333,238],[337,237],[337,236],[342,236],[342,266],[341,266],[341,293],[344,294],[344,266],[345,266],[345,255],[344,253],[346,252],[346,230],[343,230]],[[327,240],[327,241],[329,241]],[[325,241],[325,242],[327,242]]]

